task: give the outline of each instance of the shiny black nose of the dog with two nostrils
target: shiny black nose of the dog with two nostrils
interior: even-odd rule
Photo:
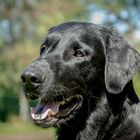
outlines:
[[[44,80],[44,76],[40,71],[26,69],[21,74],[22,83],[25,85],[32,85],[34,87],[40,86]]]

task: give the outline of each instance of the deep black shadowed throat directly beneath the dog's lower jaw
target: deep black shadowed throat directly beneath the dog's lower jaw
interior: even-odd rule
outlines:
[[[83,107],[87,107],[88,102],[83,102]],[[66,122],[62,122],[57,127],[57,140],[76,140],[78,132],[85,127],[85,120],[88,116],[87,108],[81,108],[80,111],[75,112],[76,115]]]

